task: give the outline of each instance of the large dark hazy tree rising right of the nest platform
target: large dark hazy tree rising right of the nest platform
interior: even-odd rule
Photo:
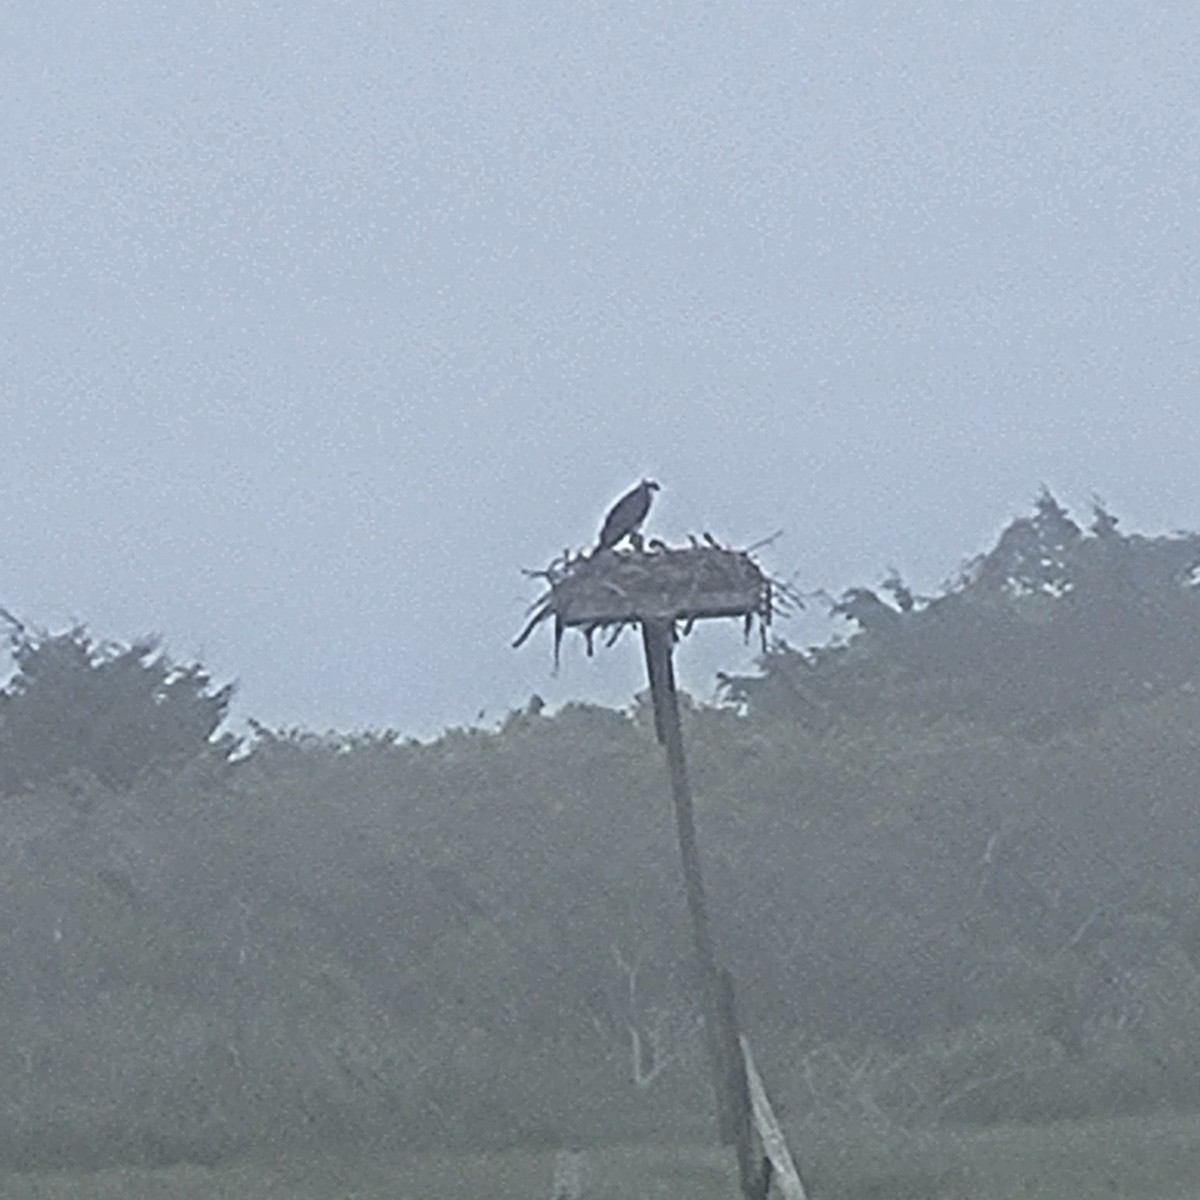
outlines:
[[[724,679],[752,713],[822,728],[900,714],[1046,736],[1200,682],[1200,535],[1087,530],[1043,492],[934,598],[893,575],[832,605],[857,626],[808,652],[778,643],[757,677]],[[882,595],[881,595],[882,593]]]

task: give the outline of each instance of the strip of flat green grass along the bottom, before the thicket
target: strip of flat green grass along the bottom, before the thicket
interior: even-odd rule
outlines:
[[[824,1138],[793,1146],[814,1200],[1200,1200],[1200,1117]],[[587,1200],[736,1200],[715,1147],[587,1154]],[[292,1156],[222,1166],[0,1175],[5,1200],[550,1200],[553,1154]]]

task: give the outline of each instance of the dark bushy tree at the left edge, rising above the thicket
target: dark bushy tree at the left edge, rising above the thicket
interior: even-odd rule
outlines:
[[[72,770],[124,788],[148,768],[232,749],[216,731],[234,685],[214,690],[199,664],[174,662],[157,638],[97,642],[82,625],[48,634],[2,616],[17,670],[0,690],[0,793]]]

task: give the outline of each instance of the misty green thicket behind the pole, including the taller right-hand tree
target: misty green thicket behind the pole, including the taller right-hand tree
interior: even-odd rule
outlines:
[[[1200,1106],[1190,541],[1026,524],[685,712],[719,953],[802,1138]],[[1006,664],[1028,702],[972,690]],[[258,726],[220,774],[47,779],[4,834],[0,1157],[710,1128],[643,704]]]

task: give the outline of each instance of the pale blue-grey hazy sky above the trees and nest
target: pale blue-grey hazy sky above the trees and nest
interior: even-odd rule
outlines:
[[[19,10],[0,605],[239,720],[626,703],[636,638],[510,642],[643,475],[805,590],[935,588],[1043,484],[1200,528],[1195,5]]]

